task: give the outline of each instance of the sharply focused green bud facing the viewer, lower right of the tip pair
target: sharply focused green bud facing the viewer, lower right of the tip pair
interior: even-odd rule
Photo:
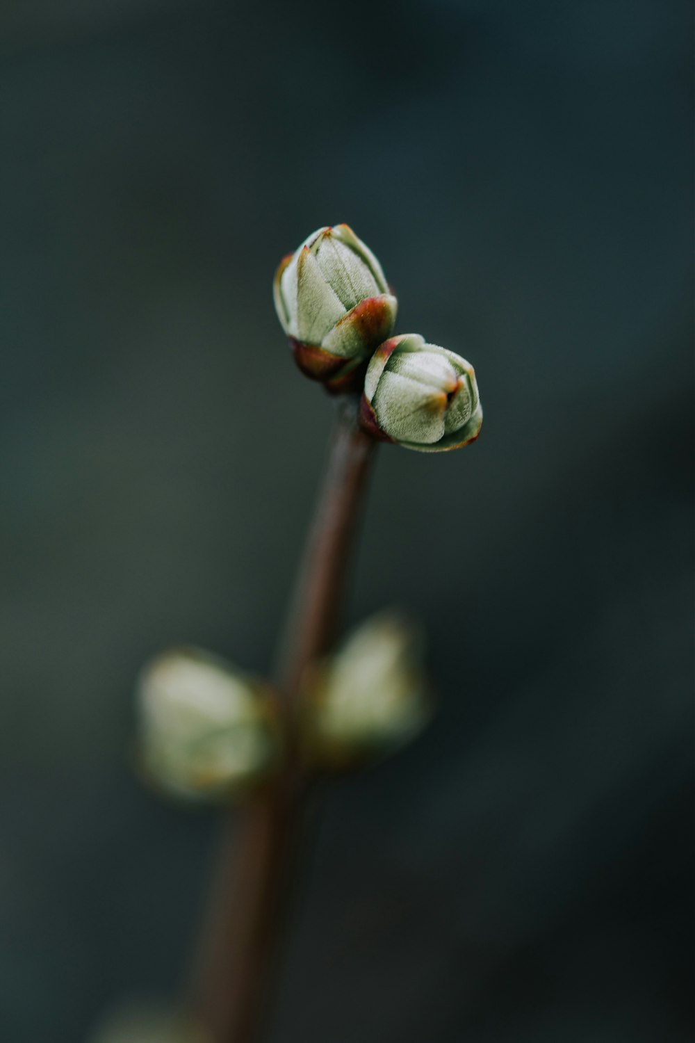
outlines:
[[[369,363],[359,420],[375,438],[421,453],[468,445],[482,423],[475,371],[419,334],[392,337]]]

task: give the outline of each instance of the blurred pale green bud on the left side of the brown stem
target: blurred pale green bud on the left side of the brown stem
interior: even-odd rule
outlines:
[[[224,801],[273,769],[272,697],[221,659],[199,649],[165,652],[144,666],[135,697],[139,761],[157,790]]]

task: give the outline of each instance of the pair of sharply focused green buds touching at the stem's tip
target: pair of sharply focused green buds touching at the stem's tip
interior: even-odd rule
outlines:
[[[419,334],[393,336],[396,297],[347,224],[319,228],[286,257],[274,297],[299,368],[333,393],[364,389],[359,418],[373,437],[421,453],[477,438],[473,367]]]

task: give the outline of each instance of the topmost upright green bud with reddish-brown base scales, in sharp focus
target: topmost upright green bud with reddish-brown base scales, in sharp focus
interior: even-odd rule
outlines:
[[[347,224],[305,239],[280,262],[273,290],[297,365],[329,390],[348,390],[359,364],[393,332],[397,300]]]

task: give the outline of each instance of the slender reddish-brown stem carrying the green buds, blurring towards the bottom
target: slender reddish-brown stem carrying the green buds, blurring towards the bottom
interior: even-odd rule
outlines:
[[[212,1043],[255,1043],[266,1017],[309,779],[297,756],[295,714],[306,668],[331,648],[350,548],[375,442],[356,401],[339,399],[323,489],[281,649],[288,756],[278,776],[225,823],[217,877],[193,979],[193,1003]]]

